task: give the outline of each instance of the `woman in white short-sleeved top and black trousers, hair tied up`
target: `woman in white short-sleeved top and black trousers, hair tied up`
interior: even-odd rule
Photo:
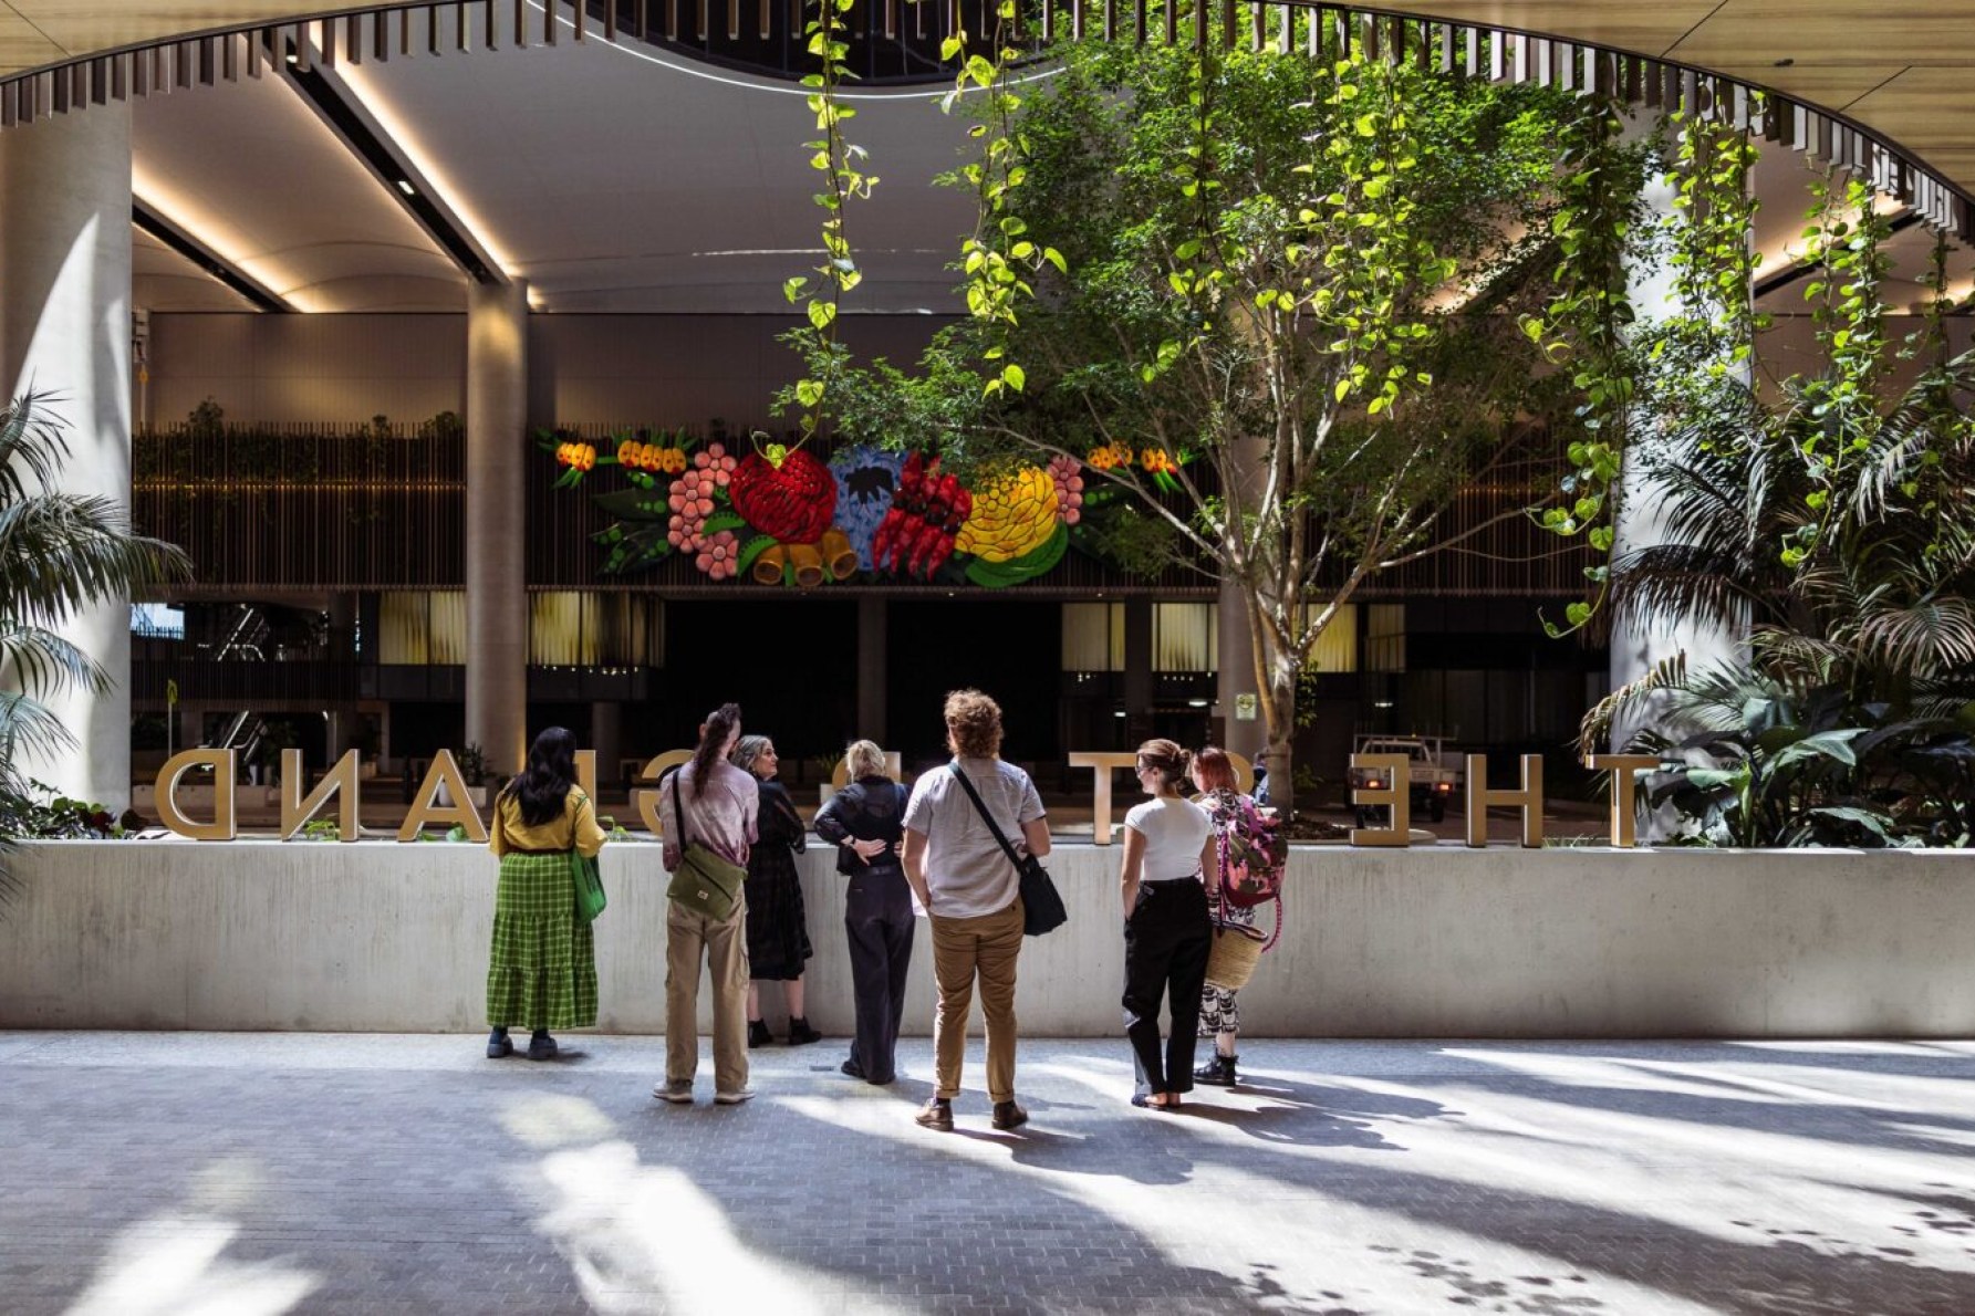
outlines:
[[[1179,1109],[1193,1091],[1193,1042],[1213,949],[1209,884],[1221,882],[1207,811],[1179,797],[1187,752],[1171,740],[1138,748],[1138,781],[1151,797],[1124,815],[1124,1032],[1138,1089],[1132,1105]],[[1159,998],[1173,1028],[1159,1046]]]

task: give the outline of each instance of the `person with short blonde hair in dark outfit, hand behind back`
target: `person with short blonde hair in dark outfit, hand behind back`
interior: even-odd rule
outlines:
[[[885,1085],[899,1077],[895,1054],[905,973],[912,963],[912,892],[899,864],[907,793],[885,773],[885,752],[869,740],[851,744],[843,766],[851,785],[816,815],[816,835],[837,846],[837,872],[851,880],[843,931],[851,945],[857,1036],[843,1073]]]

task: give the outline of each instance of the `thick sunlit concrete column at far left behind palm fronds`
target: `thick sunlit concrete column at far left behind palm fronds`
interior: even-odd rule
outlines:
[[[130,109],[101,105],[0,136],[0,389],[55,395],[57,489],[130,507]],[[59,625],[115,679],[49,706],[75,738],[16,768],[111,811],[130,805],[130,602]],[[12,687],[10,689],[18,689]]]

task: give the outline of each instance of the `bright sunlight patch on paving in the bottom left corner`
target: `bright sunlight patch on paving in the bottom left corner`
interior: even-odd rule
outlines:
[[[241,1227],[213,1215],[150,1215],[111,1243],[69,1316],[280,1316],[322,1280],[280,1261],[227,1261]]]

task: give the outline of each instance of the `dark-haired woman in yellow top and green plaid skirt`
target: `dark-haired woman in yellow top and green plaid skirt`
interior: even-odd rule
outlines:
[[[488,953],[488,1058],[514,1054],[508,1030],[529,1030],[527,1058],[555,1060],[551,1028],[596,1026],[596,939],[577,908],[571,858],[596,858],[604,831],[577,789],[577,738],[535,736],[527,768],[494,801],[488,846],[500,856]]]

